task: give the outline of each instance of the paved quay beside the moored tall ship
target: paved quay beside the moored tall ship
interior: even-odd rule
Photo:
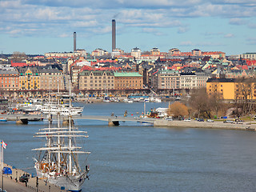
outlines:
[[[30,174],[30,178],[27,183],[19,182],[19,177],[23,174],[29,174],[23,170],[19,170],[14,168],[13,166],[3,164],[4,167],[9,167],[12,170],[12,174],[4,175],[2,182],[2,175],[0,178],[0,188],[2,188],[7,192],[64,192],[66,190],[61,190],[59,186],[54,186],[53,184],[46,182],[43,179],[38,179],[37,186],[37,178],[32,177]]]

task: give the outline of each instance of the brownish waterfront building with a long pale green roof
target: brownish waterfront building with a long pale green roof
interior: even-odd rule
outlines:
[[[137,72],[114,72],[115,90],[143,89],[143,76]]]

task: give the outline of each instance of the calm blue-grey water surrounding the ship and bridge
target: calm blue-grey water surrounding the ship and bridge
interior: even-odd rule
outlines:
[[[77,104],[78,105],[78,104]],[[81,105],[81,104],[80,104]],[[147,103],[146,110],[167,103]],[[86,104],[84,114],[142,113],[142,103]],[[77,120],[87,130],[90,180],[83,191],[255,191],[256,133],[241,130],[174,129],[138,122]],[[5,162],[34,173],[33,135],[46,122],[0,124]]]

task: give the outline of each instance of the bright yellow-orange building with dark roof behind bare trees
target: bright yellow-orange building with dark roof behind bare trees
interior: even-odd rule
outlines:
[[[209,78],[206,82],[209,95],[220,94],[223,99],[256,99],[256,79]]]

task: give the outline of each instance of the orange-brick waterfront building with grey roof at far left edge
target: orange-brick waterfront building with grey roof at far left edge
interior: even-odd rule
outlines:
[[[0,89],[19,90],[18,70],[0,70]]]

